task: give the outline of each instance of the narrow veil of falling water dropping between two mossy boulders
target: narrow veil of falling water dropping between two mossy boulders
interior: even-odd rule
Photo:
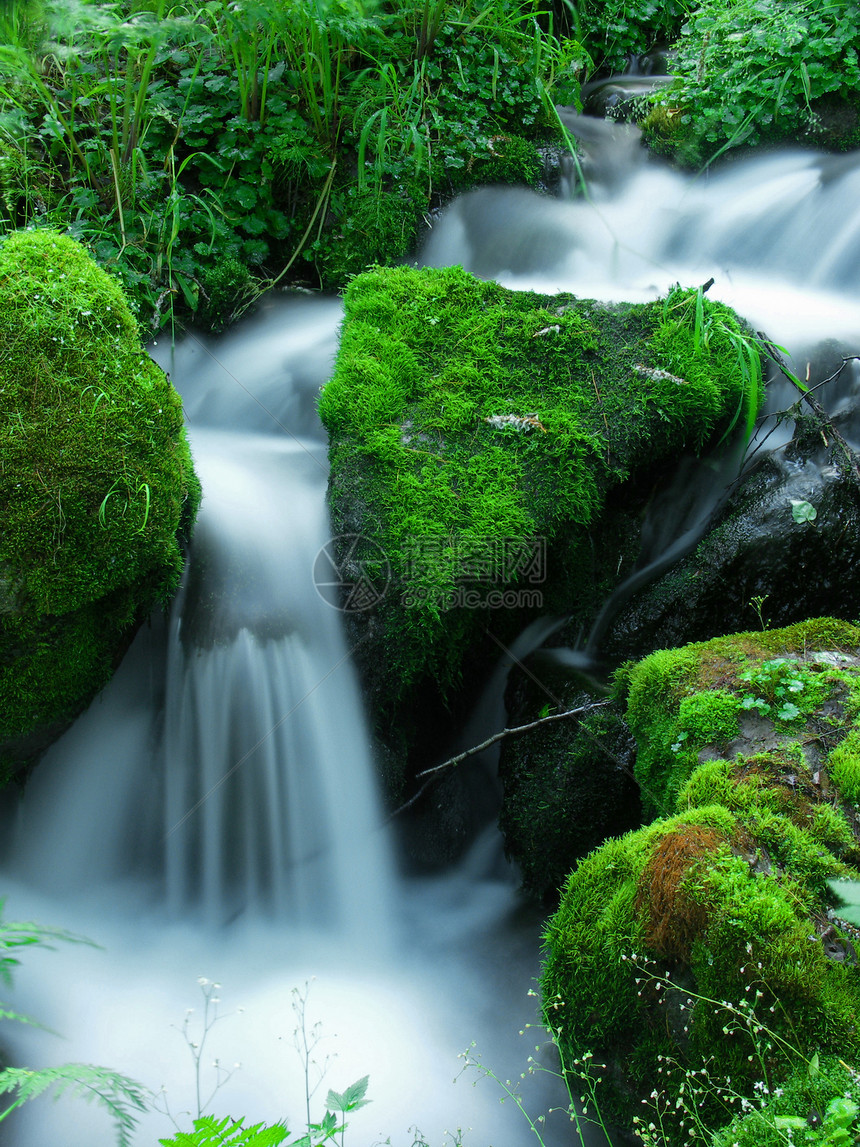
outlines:
[[[325,450],[197,431],[206,491],[167,657],[167,903],[378,935],[391,863],[337,611],[315,592]]]

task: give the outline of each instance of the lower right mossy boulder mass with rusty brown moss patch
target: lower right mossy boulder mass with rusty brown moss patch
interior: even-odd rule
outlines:
[[[621,684],[659,818],[571,874],[545,1007],[569,1062],[605,1056],[616,1115],[659,1108],[677,1131],[697,1094],[716,1128],[804,1061],[860,1054],[853,933],[827,884],[860,876],[860,629],[660,651]]]

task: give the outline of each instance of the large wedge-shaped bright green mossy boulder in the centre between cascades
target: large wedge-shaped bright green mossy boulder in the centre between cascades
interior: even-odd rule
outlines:
[[[477,679],[487,627],[593,617],[632,560],[601,537],[608,493],[759,400],[743,325],[702,290],[607,305],[460,267],[354,279],[320,413],[341,574],[378,591],[347,616],[383,734]]]

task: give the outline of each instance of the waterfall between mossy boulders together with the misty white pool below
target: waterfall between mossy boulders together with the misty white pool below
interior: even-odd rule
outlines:
[[[313,583],[329,539],[314,404],[339,318],[330,299],[291,299],[165,353],[205,491],[182,588],[8,802],[7,916],[102,945],[28,953],[15,1005],[63,1038],[17,1028],[9,1051],[164,1087],[140,1145],[196,1114],[190,1044],[212,991],[201,977],[220,984],[224,1016],[205,1039],[202,1098],[242,1064],[209,1110],[304,1126],[294,991],[312,983],[307,1029],[320,1023],[319,1063],[331,1056],[312,1117],[328,1087],[370,1076],[347,1142],[527,1131],[492,1080],[453,1080],[472,1040],[506,1077],[524,1069],[537,916],[523,916],[494,840],[444,880],[398,879],[341,617]],[[535,1114],[557,1099],[544,1083]],[[112,1136],[102,1110],[42,1100],[0,1124],[0,1141]]]

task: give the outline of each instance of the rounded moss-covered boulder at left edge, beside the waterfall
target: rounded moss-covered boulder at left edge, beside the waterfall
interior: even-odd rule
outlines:
[[[72,240],[0,244],[0,777],[109,679],[175,590],[200,500],[170,381]]]

